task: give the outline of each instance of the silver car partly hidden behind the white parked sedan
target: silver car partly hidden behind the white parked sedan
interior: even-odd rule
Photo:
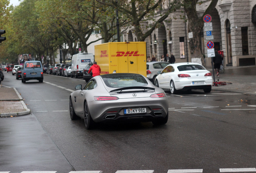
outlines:
[[[169,62],[161,62],[161,61],[152,61],[147,62],[147,78],[155,84],[155,78],[157,77],[157,72],[162,71]]]

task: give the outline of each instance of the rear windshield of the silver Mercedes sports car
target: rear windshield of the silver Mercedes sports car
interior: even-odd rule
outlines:
[[[107,87],[111,88],[143,87],[148,85],[147,80],[139,74],[106,74],[102,78]]]

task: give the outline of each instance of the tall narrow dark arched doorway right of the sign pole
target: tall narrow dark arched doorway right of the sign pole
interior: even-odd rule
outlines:
[[[227,44],[227,66],[232,66],[232,45],[231,45],[231,28],[229,20],[226,21],[226,44]]]

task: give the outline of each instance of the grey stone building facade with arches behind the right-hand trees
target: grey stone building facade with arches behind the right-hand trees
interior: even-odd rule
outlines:
[[[205,0],[198,4],[198,16],[202,17],[211,1]],[[160,60],[162,54],[173,53],[176,62],[194,62],[190,57],[187,23],[180,19],[184,15],[180,11],[172,13],[156,28],[145,41],[147,55]],[[157,17],[157,16],[156,16]],[[256,62],[256,0],[219,0],[211,14],[215,50],[223,50],[225,66],[255,65]],[[150,24],[150,21],[148,21]],[[206,31],[201,32],[202,51],[205,55],[206,66],[211,66],[208,57]],[[136,41],[136,36],[130,28],[123,34],[124,41]]]

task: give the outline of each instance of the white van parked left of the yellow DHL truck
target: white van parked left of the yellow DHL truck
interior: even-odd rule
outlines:
[[[94,61],[92,53],[78,53],[72,56],[71,73],[70,76],[77,78],[83,77],[84,68],[87,64]]]

